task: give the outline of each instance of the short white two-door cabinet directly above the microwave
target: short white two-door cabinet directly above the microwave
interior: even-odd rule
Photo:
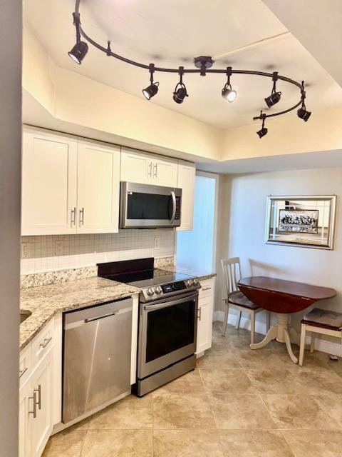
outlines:
[[[121,149],[121,181],[177,186],[177,159]]]

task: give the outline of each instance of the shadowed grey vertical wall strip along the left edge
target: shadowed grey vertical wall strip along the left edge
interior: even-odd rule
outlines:
[[[21,1],[0,14],[0,455],[18,456]]]

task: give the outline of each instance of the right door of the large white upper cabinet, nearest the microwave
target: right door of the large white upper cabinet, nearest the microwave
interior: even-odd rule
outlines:
[[[77,233],[119,230],[120,148],[78,142]]]

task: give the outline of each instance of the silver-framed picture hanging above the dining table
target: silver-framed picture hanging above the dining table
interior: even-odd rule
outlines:
[[[336,195],[268,196],[267,244],[333,249]]]

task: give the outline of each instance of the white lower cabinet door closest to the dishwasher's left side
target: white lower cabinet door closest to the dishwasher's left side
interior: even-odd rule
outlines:
[[[36,393],[36,418],[32,419],[31,456],[40,457],[52,431],[51,421],[51,368],[52,351],[39,364],[32,375],[32,389]]]

